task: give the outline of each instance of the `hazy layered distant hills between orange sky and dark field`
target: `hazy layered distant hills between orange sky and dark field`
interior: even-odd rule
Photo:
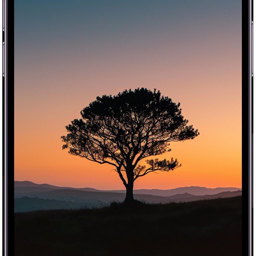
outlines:
[[[135,199],[154,204],[228,198],[241,194],[241,189],[233,187],[209,189],[190,186],[168,190],[134,190]],[[30,181],[15,181],[14,197],[15,212],[41,209],[91,208],[108,205],[112,201],[124,201],[125,190],[58,187],[49,184],[36,184]]]

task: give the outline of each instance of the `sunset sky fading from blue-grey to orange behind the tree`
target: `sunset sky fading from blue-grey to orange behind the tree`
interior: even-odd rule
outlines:
[[[135,189],[241,188],[241,0],[16,0],[15,180],[124,189],[61,136],[96,96],[137,87],[180,102],[200,135]]]

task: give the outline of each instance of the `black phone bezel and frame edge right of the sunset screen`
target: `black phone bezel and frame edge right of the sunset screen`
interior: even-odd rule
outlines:
[[[252,253],[252,111],[251,111],[251,17],[249,0],[242,0],[242,255]]]

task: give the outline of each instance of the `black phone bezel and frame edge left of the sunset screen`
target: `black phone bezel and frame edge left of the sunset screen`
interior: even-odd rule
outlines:
[[[5,47],[6,47],[6,71],[3,101],[5,102],[4,125],[5,125],[5,172],[3,172],[3,184],[5,184],[5,244],[3,244],[3,255],[14,255],[14,1],[5,0],[6,24],[5,24]],[[5,201],[3,200],[3,203]],[[3,226],[4,227],[4,226]]]

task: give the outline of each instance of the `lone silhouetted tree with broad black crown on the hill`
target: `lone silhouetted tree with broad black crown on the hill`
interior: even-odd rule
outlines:
[[[198,136],[198,130],[187,125],[180,103],[161,96],[160,91],[138,88],[116,96],[97,97],[81,111],[62,136],[69,153],[97,163],[114,166],[126,188],[125,202],[134,201],[134,180],[149,172],[173,170],[181,166],[177,159],[145,161],[150,156],[171,151],[172,141]]]

